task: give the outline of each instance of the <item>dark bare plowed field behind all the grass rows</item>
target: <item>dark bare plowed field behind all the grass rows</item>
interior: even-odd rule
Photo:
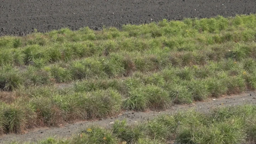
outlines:
[[[0,36],[256,13],[256,0],[0,0]]]

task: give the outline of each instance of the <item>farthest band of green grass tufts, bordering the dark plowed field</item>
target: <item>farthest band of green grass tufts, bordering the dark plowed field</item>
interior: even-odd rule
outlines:
[[[105,28],[79,31],[63,28],[48,33],[33,33],[25,37],[0,38],[0,65],[46,65],[80,58],[107,56],[120,51],[142,52],[166,47],[172,52],[202,50],[206,46],[255,41],[256,16],[221,16],[209,19],[161,21],[147,25],[125,25],[122,31]],[[230,47],[231,48],[231,47]],[[228,49],[226,49],[228,50]],[[230,49],[231,50],[231,49]],[[234,49],[234,57],[247,51]],[[242,53],[242,55],[240,54]]]

